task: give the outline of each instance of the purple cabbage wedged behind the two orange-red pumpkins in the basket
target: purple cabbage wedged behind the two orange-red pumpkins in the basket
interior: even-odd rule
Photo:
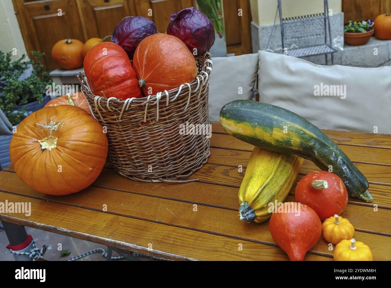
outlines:
[[[125,17],[114,28],[111,42],[120,45],[129,59],[133,59],[138,44],[145,37],[155,34],[156,25],[151,20],[140,16]]]

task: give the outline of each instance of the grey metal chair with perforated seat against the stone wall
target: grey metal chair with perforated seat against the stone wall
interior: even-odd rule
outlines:
[[[333,53],[337,52],[337,50],[331,46],[332,40],[330,20],[328,18],[328,0],[323,0],[323,6],[323,13],[282,18],[281,0],[278,0],[282,49],[284,52],[286,51],[287,55],[293,57],[305,57],[325,54],[327,65],[327,55],[331,54],[331,63],[334,65]],[[285,43],[311,38],[324,39],[324,41],[323,43],[317,43],[316,45],[307,45],[299,48],[285,50]],[[327,43],[327,40],[329,40],[330,44]]]

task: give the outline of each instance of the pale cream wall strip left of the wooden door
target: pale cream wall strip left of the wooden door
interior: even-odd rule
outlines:
[[[12,52],[13,48],[16,48],[13,60],[27,54],[11,0],[0,0],[0,39],[0,50],[4,53]]]

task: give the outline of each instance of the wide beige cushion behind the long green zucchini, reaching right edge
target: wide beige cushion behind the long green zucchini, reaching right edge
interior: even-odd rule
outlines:
[[[260,102],[291,110],[321,129],[373,133],[377,126],[378,133],[391,134],[391,66],[323,66],[258,55]]]

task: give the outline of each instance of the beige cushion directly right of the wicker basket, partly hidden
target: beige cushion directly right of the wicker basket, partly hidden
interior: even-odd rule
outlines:
[[[258,73],[258,54],[213,57],[209,81],[209,120],[220,121],[222,106],[237,99],[251,99]]]

